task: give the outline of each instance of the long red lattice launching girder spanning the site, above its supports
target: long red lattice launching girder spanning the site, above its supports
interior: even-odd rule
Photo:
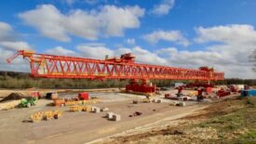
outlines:
[[[175,80],[223,80],[223,72],[214,72],[206,67],[199,70],[183,69],[135,63],[131,54],[120,59],[84,59],[46,54],[35,54],[24,50],[7,59],[10,62],[19,55],[29,59],[31,76],[44,78],[86,79],[175,79]]]

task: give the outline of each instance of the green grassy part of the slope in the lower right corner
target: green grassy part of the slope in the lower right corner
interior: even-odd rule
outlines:
[[[222,110],[216,108],[220,112],[215,111],[215,115],[211,113],[207,121],[195,124],[195,127],[216,129],[219,137],[217,143],[256,143],[256,98],[225,101],[222,104],[226,105],[225,109],[231,104],[236,110],[225,113],[222,112],[225,111],[223,107]],[[239,133],[243,129],[248,132]]]

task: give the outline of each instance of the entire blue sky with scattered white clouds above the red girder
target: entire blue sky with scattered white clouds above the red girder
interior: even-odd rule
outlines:
[[[93,59],[132,52],[138,62],[254,78],[247,58],[256,45],[255,9],[255,0],[1,1],[0,70],[26,71],[22,60],[3,59],[27,46]]]

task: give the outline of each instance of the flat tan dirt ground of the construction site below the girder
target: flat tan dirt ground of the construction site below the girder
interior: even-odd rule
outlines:
[[[168,92],[174,94],[176,90]],[[7,91],[4,91],[4,93],[2,97],[5,97]],[[75,95],[76,92],[74,91],[62,92],[60,97],[74,97]],[[149,127],[154,127],[155,124],[157,125],[156,127],[160,128],[167,124],[172,124],[172,122],[175,122],[174,120],[209,107],[208,103],[198,104],[195,101],[187,101],[185,107],[170,106],[168,101],[163,103],[139,102],[139,104],[133,104],[132,100],[141,100],[145,97],[118,92],[94,91],[90,92],[90,96],[101,100],[101,102],[93,104],[93,106],[107,107],[110,111],[120,114],[122,120],[119,122],[107,120],[104,118],[107,111],[100,113],[71,112],[69,107],[56,108],[48,106],[52,100],[40,99],[37,101],[37,105],[31,108],[0,111],[1,143],[103,143],[107,140],[112,141],[113,139],[108,139],[110,136],[115,136],[116,134],[127,135],[129,132],[133,134],[134,131],[143,131],[144,127],[149,129]],[[160,97],[163,98],[163,95]],[[59,120],[42,121],[40,123],[31,123],[29,121],[32,113],[47,110],[61,110],[64,113]],[[140,111],[142,114],[129,117],[135,111]],[[106,140],[101,141],[102,139]],[[126,140],[120,139],[122,142],[126,142]],[[115,139],[114,142],[120,143],[120,139]]]

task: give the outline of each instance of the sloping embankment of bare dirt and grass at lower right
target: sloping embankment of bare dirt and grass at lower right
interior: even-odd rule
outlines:
[[[255,143],[256,98],[236,96],[222,98],[180,119],[163,119],[93,143]]]

